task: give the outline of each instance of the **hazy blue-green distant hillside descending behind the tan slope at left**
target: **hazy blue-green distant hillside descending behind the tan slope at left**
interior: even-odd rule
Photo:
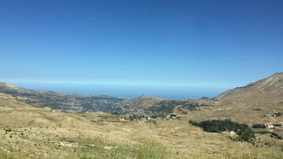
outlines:
[[[109,106],[124,100],[107,95],[77,95],[24,89],[8,83],[0,83],[0,96],[14,98],[32,106],[49,107],[67,113],[105,111]]]

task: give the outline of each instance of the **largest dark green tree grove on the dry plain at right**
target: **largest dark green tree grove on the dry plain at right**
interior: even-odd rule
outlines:
[[[239,124],[237,122],[232,122],[231,120],[212,120],[212,121],[202,121],[200,123],[190,121],[194,126],[201,127],[206,132],[223,132],[223,131],[234,131],[239,137],[237,140],[250,142],[255,139],[254,132],[247,124]]]

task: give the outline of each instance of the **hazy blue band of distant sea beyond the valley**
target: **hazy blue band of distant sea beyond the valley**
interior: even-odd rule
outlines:
[[[167,100],[185,98],[216,97],[227,89],[181,86],[138,86],[138,85],[96,85],[96,84],[42,84],[13,83],[17,87],[53,91],[58,93],[73,93],[79,95],[110,95],[123,98],[135,98],[142,94],[157,96]]]

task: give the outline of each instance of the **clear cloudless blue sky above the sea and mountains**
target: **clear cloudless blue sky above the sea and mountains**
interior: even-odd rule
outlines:
[[[3,1],[0,81],[234,88],[283,70],[283,1]]]

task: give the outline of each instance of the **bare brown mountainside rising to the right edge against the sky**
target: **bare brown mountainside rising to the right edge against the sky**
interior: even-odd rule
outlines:
[[[250,101],[279,103],[283,102],[283,73],[275,73],[243,87],[227,90],[216,100]]]

